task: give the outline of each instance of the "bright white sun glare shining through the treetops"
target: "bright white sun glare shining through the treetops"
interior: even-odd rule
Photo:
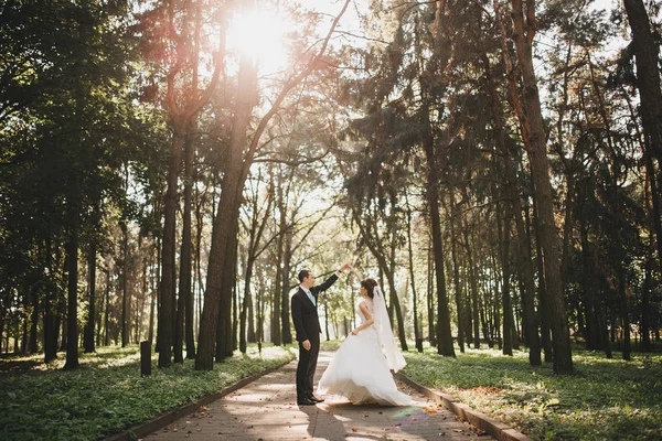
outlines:
[[[276,11],[259,9],[237,13],[231,23],[227,45],[254,56],[263,73],[273,73],[287,62],[284,39],[291,25]]]

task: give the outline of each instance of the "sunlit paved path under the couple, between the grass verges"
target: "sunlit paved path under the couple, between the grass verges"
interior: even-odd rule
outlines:
[[[316,384],[332,353],[322,352]],[[317,406],[297,406],[297,362],[201,407],[145,441],[173,440],[491,440],[453,413],[398,384],[416,400],[409,407],[354,406],[327,396]]]

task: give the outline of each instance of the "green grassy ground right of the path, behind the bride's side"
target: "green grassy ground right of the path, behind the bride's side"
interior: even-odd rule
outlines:
[[[631,362],[575,351],[575,375],[531,367],[513,357],[468,349],[442,358],[434,349],[408,353],[403,373],[448,392],[536,440],[658,440],[662,433],[662,355]],[[620,356],[620,354],[615,354]]]

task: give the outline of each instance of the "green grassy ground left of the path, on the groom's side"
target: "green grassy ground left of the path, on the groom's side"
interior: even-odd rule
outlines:
[[[81,354],[82,367],[74,372],[61,370],[62,358],[28,370],[0,372],[0,439],[104,438],[291,361],[295,352],[271,346],[263,348],[260,356],[252,346],[247,355],[236,353],[212,372],[194,370],[193,361],[159,369],[157,357],[149,377],[140,377],[138,346]],[[30,365],[33,361],[12,357],[10,362]]]

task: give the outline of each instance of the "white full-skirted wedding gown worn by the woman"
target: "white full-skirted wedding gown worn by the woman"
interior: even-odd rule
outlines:
[[[364,302],[373,313],[371,302]],[[356,308],[356,312],[364,322],[361,308]],[[402,354],[398,355],[402,358]],[[402,358],[402,366],[404,363]],[[318,394],[341,395],[355,405],[409,406],[414,402],[397,390],[375,324],[346,337],[322,374]]]

